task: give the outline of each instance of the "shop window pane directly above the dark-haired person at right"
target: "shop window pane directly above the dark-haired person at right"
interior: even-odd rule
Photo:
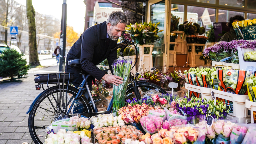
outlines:
[[[228,11],[228,10],[219,10],[219,20],[218,22],[228,22],[228,20],[231,17],[234,17],[236,15],[244,16],[243,12],[237,12],[237,11]]]

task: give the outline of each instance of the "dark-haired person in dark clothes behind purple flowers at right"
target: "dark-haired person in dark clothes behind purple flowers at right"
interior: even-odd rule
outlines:
[[[236,32],[234,31],[233,29],[233,26],[232,26],[232,23],[233,22],[236,22],[236,21],[241,21],[241,20],[244,20],[244,17],[240,16],[240,15],[236,15],[234,17],[231,17],[229,19],[229,27],[230,27],[230,31],[225,33],[220,41],[226,41],[226,42],[230,42],[232,40],[237,40],[237,37],[236,37]]]

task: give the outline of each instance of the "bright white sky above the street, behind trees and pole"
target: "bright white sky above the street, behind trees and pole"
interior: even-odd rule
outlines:
[[[26,6],[26,0],[15,0]],[[84,0],[67,0],[67,25],[72,26],[74,31],[82,33],[84,31],[85,4]],[[61,20],[63,0],[32,0],[36,12],[53,15]]]

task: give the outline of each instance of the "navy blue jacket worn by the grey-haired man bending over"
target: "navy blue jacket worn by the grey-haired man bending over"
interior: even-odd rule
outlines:
[[[82,69],[87,74],[90,74],[97,80],[100,80],[105,75],[105,72],[96,67],[96,65],[101,63],[104,59],[107,59],[112,72],[111,65],[114,60],[117,59],[117,51],[111,52],[110,49],[117,45],[117,40],[112,41],[110,39],[109,46],[106,47],[106,35],[106,22],[85,30],[68,52],[67,62],[73,59],[81,59]],[[72,68],[66,64],[65,71],[72,72]],[[80,80],[75,79],[74,81],[74,83],[81,83]]]

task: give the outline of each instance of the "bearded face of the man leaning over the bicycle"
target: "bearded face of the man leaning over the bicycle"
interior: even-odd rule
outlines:
[[[118,23],[116,26],[111,26],[110,23],[107,24],[107,33],[111,40],[117,40],[125,29],[125,23]]]

